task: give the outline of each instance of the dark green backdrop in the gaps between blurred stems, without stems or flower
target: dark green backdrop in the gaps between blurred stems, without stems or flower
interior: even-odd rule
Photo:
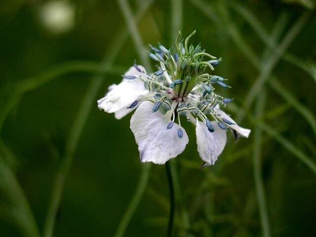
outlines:
[[[1,2],[0,113],[19,81],[40,75],[62,62],[100,62],[118,32],[128,31],[117,1],[72,1],[76,24],[69,32],[59,35],[47,32],[40,24],[38,12],[42,1]],[[212,21],[193,2],[197,1],[183,1],[182,33],[186,36],[196,29],[192,43],[201,42],[207,52],[223,57],[216,74],[230,79],[232,89],[220,89],[220,93],[235,97],[239,107],[243,106],[259,73],[232,39],[231,24],[259,58],[267,45],[237,13],[235,4],[251,11],[269,35],[278,17],[285,14],[287,23],[281,40],[298,18],[310,11],[307,22],[287,49],[311,69],[310,73],[281,58],[273,75],[315,115],[316,72],[313,74],[312,68],[316,67],[316,16],[313,9],[309,10],[300,1],[202,1],[207,12],[211,14],[207,6],[214,9],[215,21]],[[136,12],[142,1],[129,3]],[[225,20],[223,8],[230,19]],[[170,2],[156,0],[138,25],[143,42],[157,44],[160,41],[171,46],[171,38],[176,35],[176,32],[171,35],[171,19]],[[128,69],[134,59],[140,61],[129,37],[114,65]],[[130,115],[116,120],[113,115],[98,110],[96,103],[110,84],[120,81],[123,73],[104,75],[65,183],[55,236],[113,236],[134,194],[143,164],[139,162],[137,145],[129,130]],[[4,121],[1,138],[17,159],[12,169],[31,204],[40,231],[65,144],[93,75],[84,72],[62,75],[26,92]],[[316,139],[310,123],[269,85],[265,88],[265,123],[315,163]],[[254,108],[252,106],[247,113],[254,115]],[[236,113],[229,112],[233,118],[237,117]],[[315,121],[315,117],[313,119]],[[249,117],[239,125],[256,128]],[[261,236],[252,166],[253,133],[238,143],[231,140],[215,166],[199,170],[202,162],[197,153],[194,127],[187,123],[185,128],[190,142],[186,151],[172,163],[179,174],[181,199],[189,213],[191,227],[181,231],[177,217],[175,236],[188,233],[197,237]],[[272,236],[315,236],[316,173],[274,136],[263,132],[262,139],[262,175]],[[234,161],[234,158],[237,159]],[[216,167],[230,160],[233,161],[226,162],[221,170]],[[168,197],[165,168],[154,165],[146,192],[124,236],[165,236]],[[11,203],[2,191],[0,201]],[[0,236],[22,236],[23,231],[2,214],[0,210]]]

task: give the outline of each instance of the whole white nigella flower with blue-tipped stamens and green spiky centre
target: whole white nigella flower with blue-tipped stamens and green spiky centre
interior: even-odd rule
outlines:
[[[98,100],[99,109],[115,113],[120,119],[135,111],[130,119],[140,160],[164,164],[181,154],[189,142],[181,125],[181,118],[196,126],[197,151],[205,162],[213,165],[224,150],[227,131],[235,137],[248,137],[250,130],[239,127],[220,106],[232,101],[215,92],[215,86],[230,87],[226,80],[206,72],[214,70],[216,59],[200,48],[189,46],[189,39],[180,40],[174,51],[161,44],[151,46],[149,56],[158,62],[158,71],[147,73],[134,64],[118,85],[111,85],[104,98]],[[176,123],[176,120],[178,123]]]

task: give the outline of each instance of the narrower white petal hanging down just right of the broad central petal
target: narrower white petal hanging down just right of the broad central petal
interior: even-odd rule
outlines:
[[[221,129],[217,122],[212,121],[215,131],[208,131],[204,122],[197,120],[197,151],[205,162],[213,165],[226,145],[226,131]]]

